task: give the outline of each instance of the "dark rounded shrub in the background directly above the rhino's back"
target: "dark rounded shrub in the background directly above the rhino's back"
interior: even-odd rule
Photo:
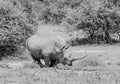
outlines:
[[[44,23],[61,24],[65,17],[64,11],[55,5],[51,5],[43,11],[42,20]]]

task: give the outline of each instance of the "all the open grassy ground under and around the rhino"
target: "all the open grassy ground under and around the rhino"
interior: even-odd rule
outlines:
[[[0,84],[120,84],[120,44],[71,47],[65,56],[86,56],[72,66],[40,68],[32,60],[0,62]]]

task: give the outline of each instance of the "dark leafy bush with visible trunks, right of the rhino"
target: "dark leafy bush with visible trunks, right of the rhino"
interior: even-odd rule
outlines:
[[[99,9],[98,11],[88,12],[76,27],[87,31],[93,43],[112,43],[110,34],[119,31],[120,16],[116,11]]]

